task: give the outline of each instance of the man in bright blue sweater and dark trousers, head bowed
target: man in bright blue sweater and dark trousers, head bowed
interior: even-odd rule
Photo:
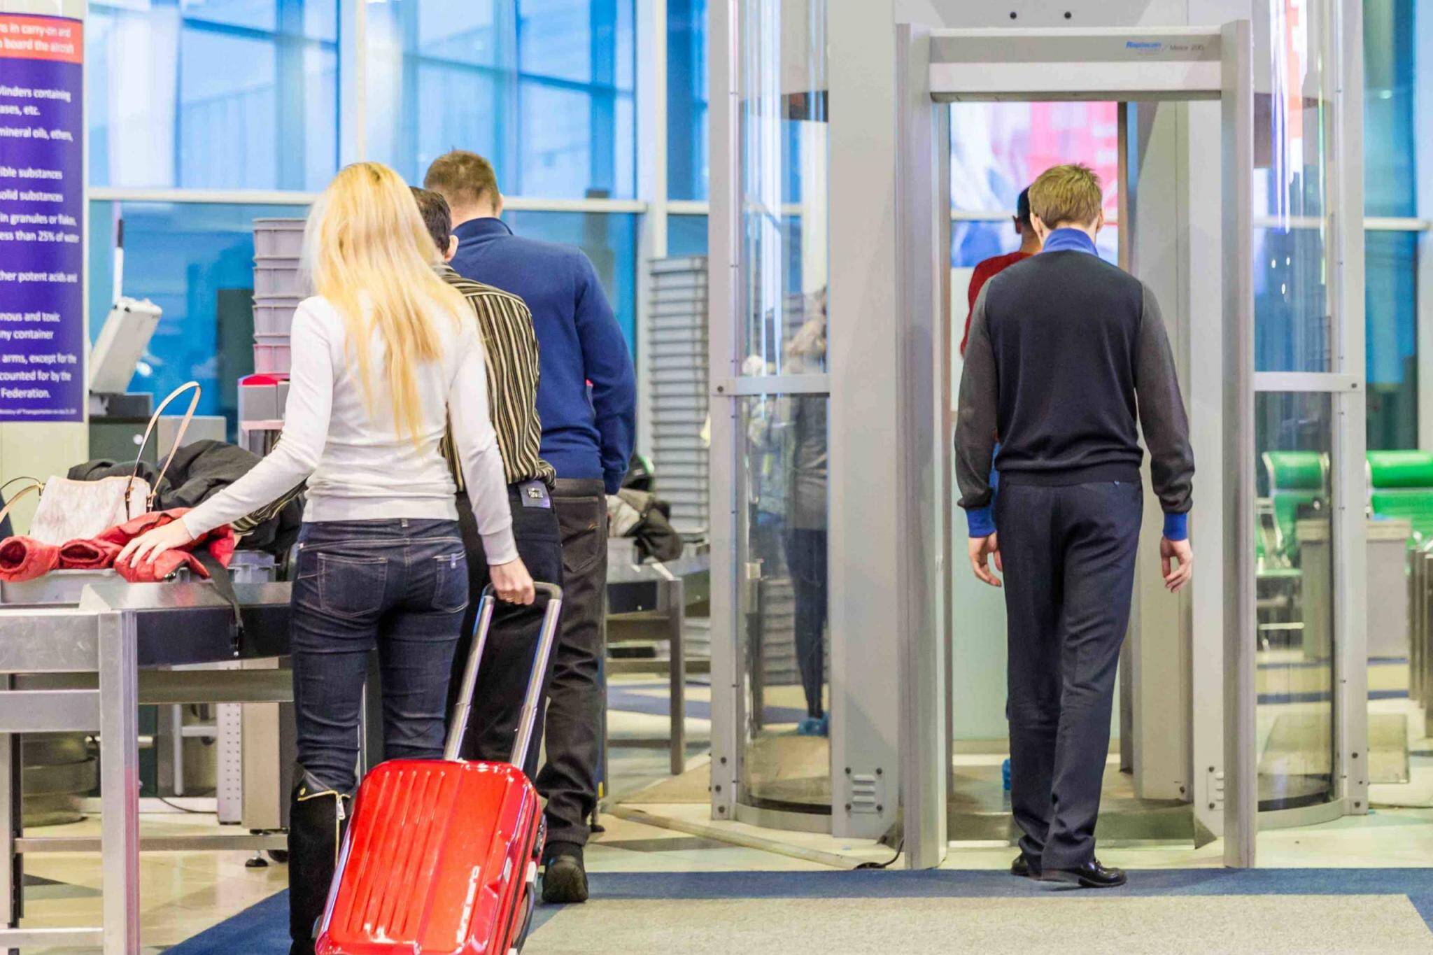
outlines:
[[[557,471],[552,494],[562,533],[562,634],[547,692],[547,762],[537,789],[547,798],[543,901],[583,902],[582,850],[598,800],[602,726],[603,597],[608,577],[608,494],[632,460],[636,374],[632,354],[580,249],[523,239],[499,218],[503,196],[493,166],[476,153],[440,156],[423,180],[453,210],[459,275],[522,298],[537,332],[537,415],[542,457]]]

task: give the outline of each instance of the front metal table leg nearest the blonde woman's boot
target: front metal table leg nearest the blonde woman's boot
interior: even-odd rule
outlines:
[[[139,951],[139,660],[135,616],[99,617],[105,955]]]

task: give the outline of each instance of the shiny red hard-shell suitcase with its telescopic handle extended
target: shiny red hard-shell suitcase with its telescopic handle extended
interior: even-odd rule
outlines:
[[[547,594],[510,763],[457,759],[493,620],[483,591],[477,633],[443,759],[377,766],[358,787],[318,955],[510,955],[532,918],[542,850],[537,790],[514,765],[532,740],[562,590]]]

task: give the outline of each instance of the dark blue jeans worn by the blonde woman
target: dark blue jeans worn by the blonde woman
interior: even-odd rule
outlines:
[[[457,521],[304,524],[291,643],[298,762],[310,775],[334,792],[354,790],[374,649],[384,756],[443,755],[449,672],[466,607]]]

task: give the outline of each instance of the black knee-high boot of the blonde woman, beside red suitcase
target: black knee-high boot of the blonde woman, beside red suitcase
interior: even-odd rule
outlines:
[[[288,816],[289,955],[314,955],[317,924],[328,901],[351,793],[340,793],[298,770]]]

